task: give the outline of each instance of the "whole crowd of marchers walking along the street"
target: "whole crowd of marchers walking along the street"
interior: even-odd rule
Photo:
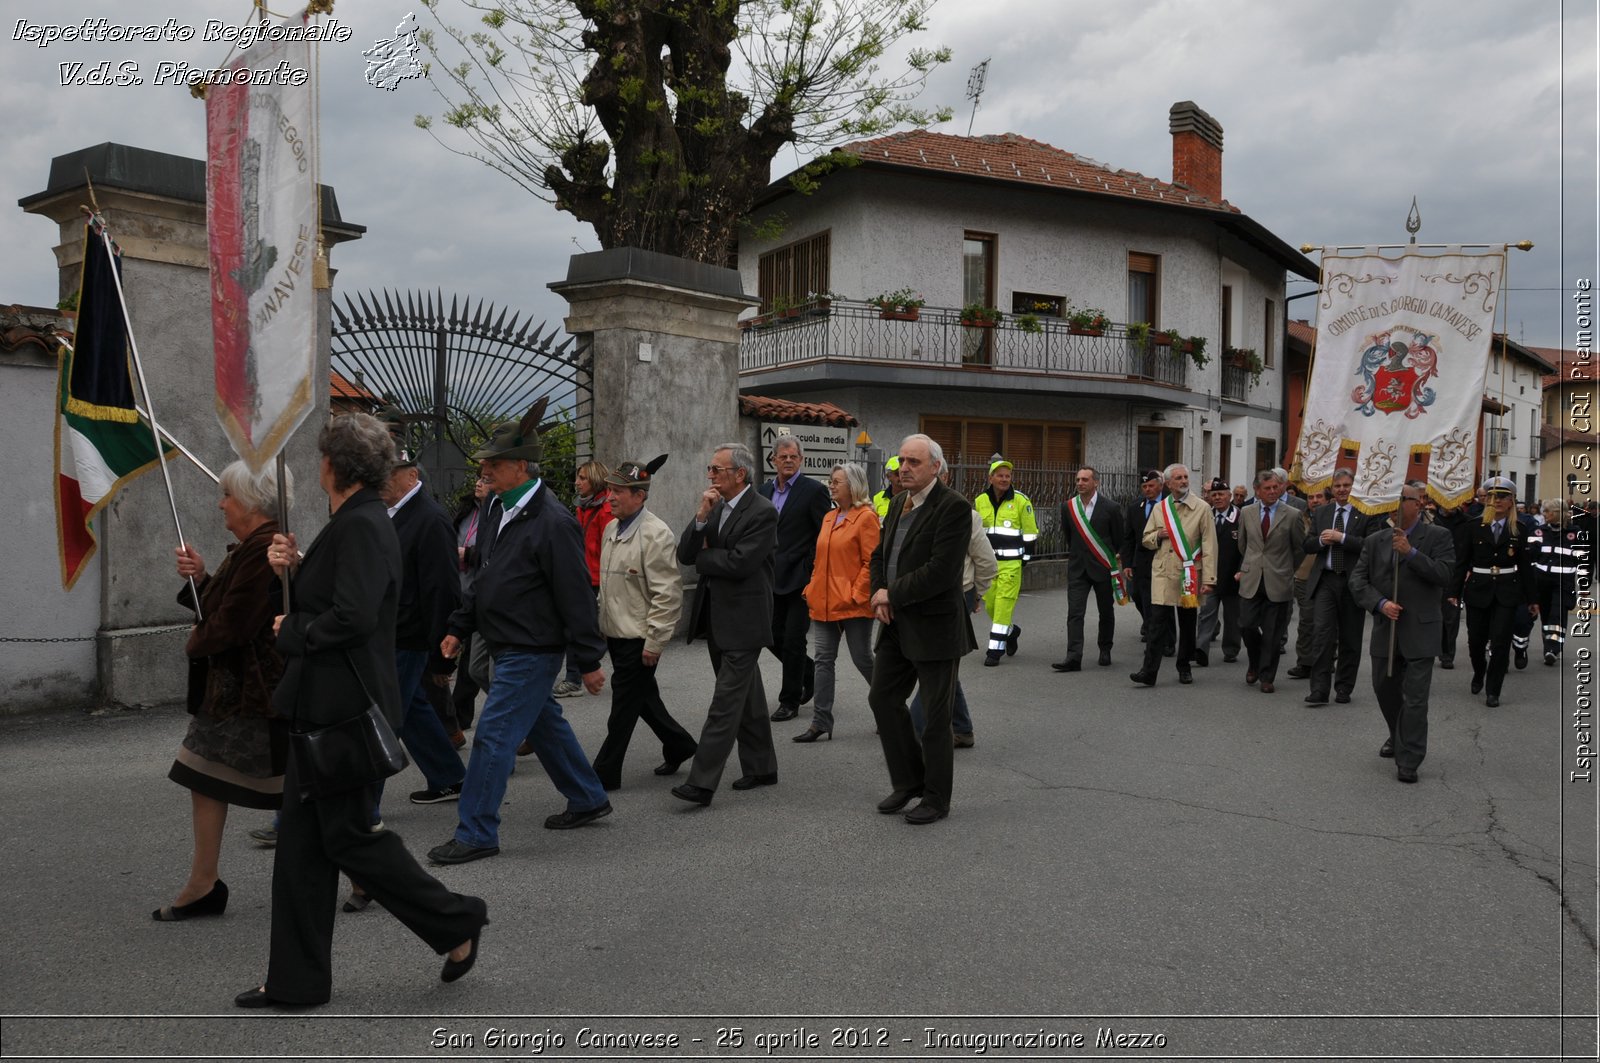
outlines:
[[[654,775],[688,764],[672,797],[710,805],[734,752],[731,791],[778,784],[773,724],[810,704],[790,740],[832,736],[842,648],[867,684],[888,770],[877,812],[909,824],[950,813],[954,751],[976,741],[958,674],[979,645],[973,616],[989,621],[984,666],[1018,653],[1022,572],[1038,538],[1005,456],[990,459],[984,491],[965,498],[949,487],[938,442],[909,435],[885,464],[883,490],[869,495],[859,464],[835,464],[826,487],[802,475],[794,437],[779,437],[776,475],[760,483],[746,445],[714,445],[693,517],[670,528],[650,511],[667,455],[582,464],[568,509],[541,477],[536,421],[490,434],[474,455],[474,491],[450,514],[381,421],[334,418],[318,439],[331,519],[312,543],[280,532],[272,469],[235,463],[219,509],[237,543],[214,572],[179,548],[178,573],[190,581],[181,600],[198,605],[200,620],[186,647],[192,719],[170,776],[190,791],[194,858],[154,917],[222,914],[229,805],[277,810],[270,828],[251,829],[275,848],[272,932],[266,978],[238,994],[240,1007],[330,999],[341,874],[344,911],[389,909],[446,957],[443,980],[477,962],[486,903],[450,892],[384,828],[382,784],[336,794],[306,784],[312,765],[299,740],[368,706],[422,773],[410,800],[456,805],[454,831],[427,852],[434,864],[499,853],[518,757],[536,757],[563,797],[546,828],[611,815],[608,792],[622,784],[640,720],[661,744]],[[1366,653],[1387,732],[1379,756],[1414,783],[1434,668],[1454,668],[1461,615],[1470,690],[1498,706],[1510,669],[1528,664],[1536,626],[1544,663],[1560,660],[1590,572],[1595,512],[1562,503],[1517,512],[1514,483],[1491,477],[1458,509],[1437,509],[1426,485],[1406,483],[1394,514],[1373,515],[1352,504],[1352,479],[1339,469],[1326,490],[1301,496],[1282,469],[1250,485],[1190,483],[1173,464],[1144,472],[1138,498],[1115,499],[1093,467],[1077,469],[1061,504],[1066,655],[1051,668],[1085,668],[1090,597],[1099,668],[1112,666],[1115,607],[1138,610],[1130,679],[1142,688],[1157,685],[1166,658],[1178,682],[1192,684],[1213,653],[1218,672],[1243,653],[1243,682],[1272,695],[1293,652],[1282,676],[1309,680],[1307,706],[1349,703]],[[706,644],[715,677],[709,706],[694,706],[704,708],[698,736],[656,682],[678,631]],[[768,652],[779,661],[776,704],[760,671]],[[606,661],[611,711],[590,759],[562,700],[600,693]]]

